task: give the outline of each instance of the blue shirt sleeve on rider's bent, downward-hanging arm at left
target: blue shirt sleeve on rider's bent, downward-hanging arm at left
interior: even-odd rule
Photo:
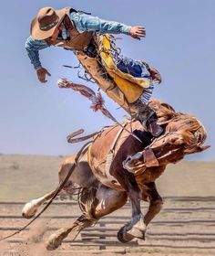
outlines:
[[[36,40],[32,37],[28,37],[26,39],[26,51],[31,63],[33,64],[35,69],[42,67],[40,59],[39,59],[39,50],[43,48],[48,48],[49,45],[45,40]]]

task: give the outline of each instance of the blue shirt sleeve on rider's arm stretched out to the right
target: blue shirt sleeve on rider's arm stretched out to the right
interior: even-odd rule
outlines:
[[[101,34],[129,34],[130,26],[116,21],[107,21],[98,18],[97,16],[90,16],[83,13],[73,12],[70,18],[74,22],[75,27],[79,33],[84,31],[94,31]]]

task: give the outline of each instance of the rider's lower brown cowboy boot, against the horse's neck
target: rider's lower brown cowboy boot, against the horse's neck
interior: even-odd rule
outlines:
[[[157,123],[157,113],[148,105],[142,105],[137,117],[143,128],[154,137],[158,137],[163,132],[162,127]]]

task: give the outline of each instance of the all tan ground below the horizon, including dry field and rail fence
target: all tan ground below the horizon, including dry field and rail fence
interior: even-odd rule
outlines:
[[[5,237],[22,227],[28,220],[21,218],[22,204],[39,197],[56,187],[57,169],[62,157],[0,155],[0,237]],[[159,192],[164,196],[164,207],[158,217],[148,226],[145,241],[137,245],[107,247],[98,254],[116,255],[111,251],[128,256],[190,256],[215,255],[215,163],[182,162],[170,165],[158,181]],[[8,205],[3,201],[14,201]],[[143,206],[145,211],[146,205]],[[71,216],[72,219],[54,219],[55,216]],[[80,215],[77,206],[61,201],[53,204],[36,220],[29,229],[15,235],[9,241],[0,242],[0,256],[40,256],[40,255],[95,255],[98,247],[74,246],[63,243],[56,251],[46,251],[46,240],[56,229],[71,224]],[[10,218],[15,216],[15,218]],[[118,224],[108,224],[107,229],[117,230],[130,216],[130,208],[121,208],[110,218],[120,220]],[[97,226],[96,226],[97,227]],[[9,228],[6,230],[5,228]],[[50,230],[52,229],[52,230]],[[53,230],[55,229],[55,230]],[[117,235],[117,233],[116,233]],[[116,240],[116,235],[107,240]],[[83,237],[78,236],[77,240]],[[16,240],[16,241],[15,241]],[[74,250],[76,250],[74,252]]]

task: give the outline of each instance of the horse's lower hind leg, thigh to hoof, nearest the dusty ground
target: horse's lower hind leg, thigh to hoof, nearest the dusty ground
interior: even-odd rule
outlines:
[[[127,193],[112,190],[109,187],[100,186],[84,189],[81,193],[80,208],[84,215],[80,216],[72,225],[59,229],[51,235],[47,241],[46,249],[55,250],[67,235],[73,231],[72,240],[75,240],[78,233],[87,227],[93,226],[101,217],[123,207],[127,202]]]

